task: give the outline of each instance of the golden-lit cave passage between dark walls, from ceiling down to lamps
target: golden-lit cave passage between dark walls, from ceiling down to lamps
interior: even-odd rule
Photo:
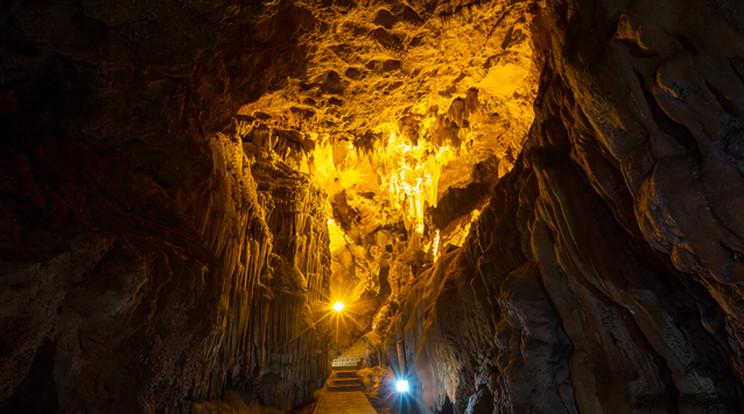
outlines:
[[[393,339],[401,304],[463,246],[534,119],[534,3],[446,19],[436,17],[442,7],[425,22],[403,5],[330,17],[273,10],[273,19],[301,20],[298,46],[311,52],[300,73],[244,104],[235,132],[225,132],[240,138],[270,231],[288,244],[274,249],[283,269],[296,268],[295,284],[311,299],[292,340],[326,335],[334,370],[365,365],[362,389],[380,409],[400,405],[395,385],[412,363]],[[325,30],[324,21],[344,29]],[[395,341],[393,354],[385,341]],[[337,377],[328,389],[350,381]]]

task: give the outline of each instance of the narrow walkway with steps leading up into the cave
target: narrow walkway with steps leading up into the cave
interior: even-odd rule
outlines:
[[[331,362],[333,371],[314,414],[377,414],[362,393],[362,380],[357,375],[364,351],[364,343],[360,341]]]

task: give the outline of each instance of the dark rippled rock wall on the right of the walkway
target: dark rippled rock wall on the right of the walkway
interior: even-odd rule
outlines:
[[[428,407],[741,411],[743,29],[735,2],[547,1],[524,150],[385,339]]]

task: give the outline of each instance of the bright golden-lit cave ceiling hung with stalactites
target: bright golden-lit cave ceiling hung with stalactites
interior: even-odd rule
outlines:
[[[539,9],[296,1],[263,11],[253,38],[296,38],[277,53],[302,50],[302,70],[243,105],[236,129],[249,158],[283,162],[327,192],[332,286],[357,286],[335,296],[378,291],[386,250],[436,260],[462,244],[534,119]]]

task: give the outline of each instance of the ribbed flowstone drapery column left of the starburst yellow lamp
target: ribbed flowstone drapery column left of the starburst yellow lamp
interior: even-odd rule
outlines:
[[[219,351],[211,353],[212,369],[200,395],[218,398],[225,387],[277,375],[284,379],[281,384],[251,392],[267,404],[289,408],[307,401],[327,375],[323,326],[310,326],[311,303],[328,297],[325,195],[285,166],[246,162],[236,148],[219,136],[213,149],[225,157],[218,160],[226,167],[217,177],[233,180],[226,196],[242,194],[231,205],[243,210],[231,211],[225,203],[220,209],[212,200],[200,226],[222,263],[226,311],[224,327],[215,335]],[[321,353],[313,356],[313,350]]]

